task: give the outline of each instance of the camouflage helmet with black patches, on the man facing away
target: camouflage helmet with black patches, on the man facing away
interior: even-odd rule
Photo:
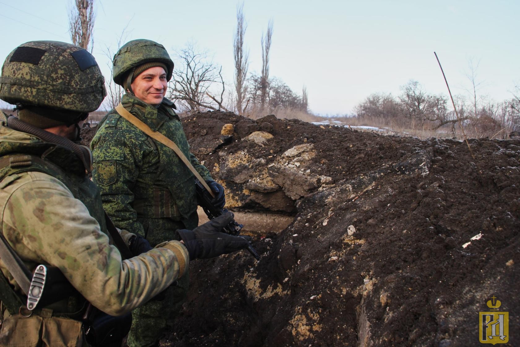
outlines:
[[[106,95],[94,57],[70,43],[24,43],[2,67],[0,98],[10,104],[85,113],[95,111]]]

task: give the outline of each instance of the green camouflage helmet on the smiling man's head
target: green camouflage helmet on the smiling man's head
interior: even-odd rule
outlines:
[[[166,80],[170,81],[173,73],[173,61],[163,45],[151,40],[132,40],[127,42],[114,55],[113,80],[124,86],[128,72],[148,62],[161,62],[166,65]]]

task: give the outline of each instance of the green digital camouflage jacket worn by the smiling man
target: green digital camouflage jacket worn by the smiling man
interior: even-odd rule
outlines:
[[[125,94],[123,107],[153,131],[170,138],[207,181],[209,170],[189,151],[188,141],[173,102],[159,108]],[[150,138],[115,110],[99,124],[90,147],[92,177],[101,189],[103,206],[115,226],[139,230],[155,245],[172,239],[178,228],[198,225],[193,174],[167,146]]]

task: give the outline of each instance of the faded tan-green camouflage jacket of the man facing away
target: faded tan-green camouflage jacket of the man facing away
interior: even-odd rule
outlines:
[[[65,147],[7,127],[0,112],[0,158],[27,154],[50,165],[11,163],[0,170],[0,232],[31,271],[37,264],[58,267],[110,315],[135,309],[184,273],[188,252],[178,241],[123,261],[109,244],[99,191],[83,163]],[[1,260],[0,269],[19,290]]]

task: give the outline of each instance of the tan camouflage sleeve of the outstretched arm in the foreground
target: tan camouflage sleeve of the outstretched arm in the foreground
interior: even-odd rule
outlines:
[[[7,197],[5,237],[22,259],[60,268],[100,310],[125,314],[170,286],[188,266],[188,252],[178,241],[122,261],[85,205],[60,181],[39,172],[19,179],[27,182],[18,182]]]

